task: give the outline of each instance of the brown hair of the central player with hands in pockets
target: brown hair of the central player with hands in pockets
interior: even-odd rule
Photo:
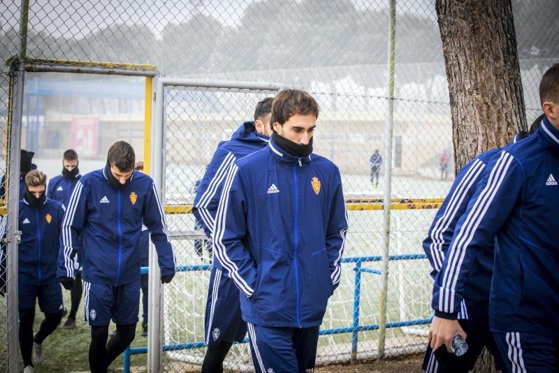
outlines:
[[[272,117],[274,122],[284,124],[293,115],[309,115],[319,117],[319,104],[313,96],[302,89],[286,88],[279,91],[272,103]]]

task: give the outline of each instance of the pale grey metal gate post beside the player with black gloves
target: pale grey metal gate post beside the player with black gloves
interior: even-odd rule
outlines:
[[[154,119],[152,126],[152,168],[151,175],[162,204],[165,204],[163,193],[163,160],[164,160],[164,128],[163,128],[163,82],[155,79],[155,89],[152,100],[154,101]],[[149,272],[149,308],[147,323],[147,372],[157,373],[161,368],[161,307],[163,306],[163,292],[159,265],[157,265],[157,252],[150,244],[150,272]]]

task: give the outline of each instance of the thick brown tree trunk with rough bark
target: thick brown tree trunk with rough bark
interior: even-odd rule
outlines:
[[[437,0],[456,170],[526,129],[511,0]]]

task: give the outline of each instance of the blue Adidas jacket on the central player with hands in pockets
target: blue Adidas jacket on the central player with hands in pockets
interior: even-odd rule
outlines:
[[[242,319],[272,327],[322,322],[340,282],[347,216],[340,171],[270,140],[226,175],[215,255],[241,291]]]

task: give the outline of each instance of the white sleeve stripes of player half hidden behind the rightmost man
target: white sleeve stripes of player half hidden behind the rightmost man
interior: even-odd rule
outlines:
[[[451,222],[453,221],[458,209],[464,202],[464,198],[467,195],[467,191],[472,188],[474,182],[483,171],[485,165],[482,161],[477,159],[474,164],[467,170],[466,175],[463,180],[460,181],[458,187],[453,191],[450,196],[449,205],[444,211],[444,214],[437,220],[433,231],[431,231],[431,244],[430,251],[431,257],[433,258],[433,263],[435,264],[435,270],[440,271],[442,267],[442,262],[444,261],[444,253],[442,252],[442,245],[444,244],[443,233],[447,231]],[[447,197],[448,198],[448,197]]]

